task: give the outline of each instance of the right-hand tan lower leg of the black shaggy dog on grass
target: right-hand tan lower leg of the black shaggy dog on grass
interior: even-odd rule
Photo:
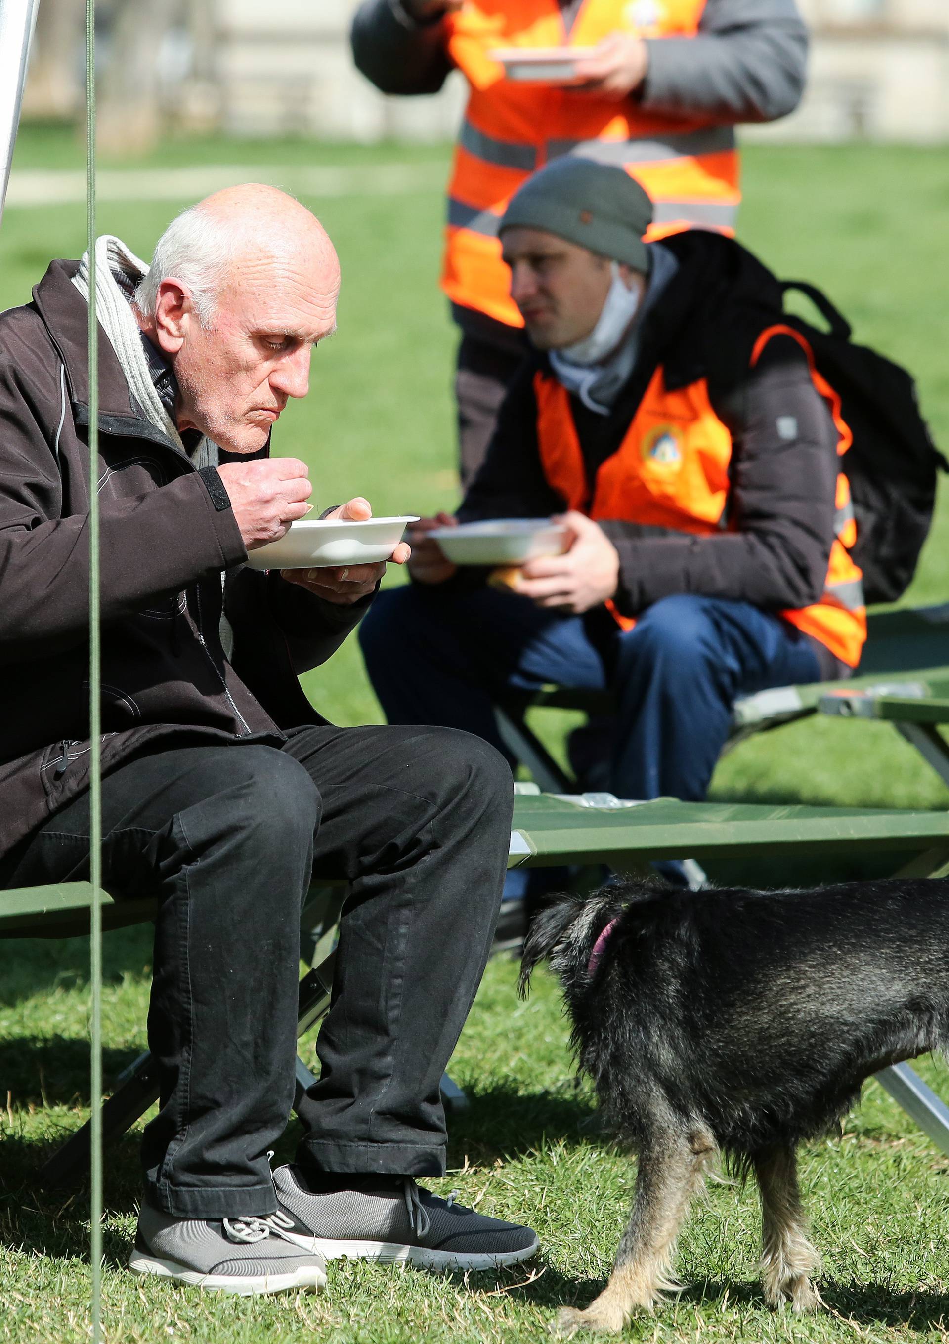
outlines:
[[[769,1306],[789,1301],[794,1312],[813,1312],[820,1298],[811,1274],[820,1257],[807,1234],[792,1146],[776,1145],[754,1159],[761,1189],[761,1277]]]

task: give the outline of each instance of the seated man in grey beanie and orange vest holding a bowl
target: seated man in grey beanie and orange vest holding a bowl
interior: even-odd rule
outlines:
[[[699,800],[734,700],[848,675],[866,616],[845,426],[777,281],[719,234],[644,243],[651,211],[621,169],[561,159],[501,220],[534,351],[457,519],[561,513],[570,550],[499,591],[422,520],[360,641],[390,723],[501,750],[499,692],[609,687],[585,786]]]

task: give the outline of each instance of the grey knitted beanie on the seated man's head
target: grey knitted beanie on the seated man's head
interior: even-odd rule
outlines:
[[[651,257],[643,234],[651,220],[652,202],[624,168],[565,155],[515,192],[499,233],[515,226],[543,228],[648,273]]]

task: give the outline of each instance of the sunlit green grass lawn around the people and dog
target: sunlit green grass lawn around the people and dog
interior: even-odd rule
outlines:
[[[367,495],[378,512],[427,511],[457,500],[450,374],[452,327],[436,288],[442,203],[440,148],[285,144],[169,144],[149,161],[300,165],[427,164],[433,187],[411,194],[306,198],[343,262],[339,335],[317,352],[311,396],[281,419],[276,450],[305,458],[321,505]],[[24,132],[17,168],[75,169],[75,142]],[[136,165],[140,167],[140,165]],[[945,151],[762,148],[746,155],[743,239],[782,276],[827,289],[858,337],[915,372],[937,439],[949,445],[949,316],[942,294],[949,176]],[[289,176],[288,176],[289,180]],[[181,200],[181,206],[187,204]],[[177,208],[104,203],[99,231],[151,247]],[[83,246],[79,204],[11,208],[0,231],[0,306],[23,302],[55,255]],[[945,500],[906,602],[949,597]],[[379,720],[355,644],[306,677],[313,702],[341,723]],[[546,731],[561,726],[548,719]],[[727,757],[718,798],[780,798],[891,806],[946,805],[946,792],[886,724],[817,720],[768,734]],[[781,880],[762,872],[759,880]],[[47,1196],[30,1172],[87,1114],[87,946],[7,943],[0,969],[0,1340],[89,1337],[86,1192]],[[106,939],[106,1074],[145,1046],[148,933]],[[106,1164],[105,1325],[109,1340],[269,1339],[367,1341],[544,1339],[552,1308],[586,1304],[602,1286],[626,1216],[634,1167],[585,1122],[559,1000],[544,976],[527,1004],[508,961],[489,966],[453,1060],[472,1097],[450,1126],[457,1188],[483,1211],[528,1220],[543,1253],[530,1271],[437,1279],[333,1266],[325,1294],[273,1301],[202,1298],[141,1286],[122,1270],[134,1226],[136,1134]],[[932,1063],[923,1073],[944,1094]],[[290,1125],[278,1160],[293,1148]],[[750,1191],[710,1187],[683,1238],[683,1296],[634,1321],[637,1340],[890,1341],[946,1339],[949,1251],[944,1226],[949,1161],[875,1085],[843,1141],[811,1145],[802,1188],[825,1257],[828,1310],[792,1321],[765,1309],[755,1285],[758,1219]]]

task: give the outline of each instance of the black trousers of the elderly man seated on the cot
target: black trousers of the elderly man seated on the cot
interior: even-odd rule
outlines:
[[[507,762],[450,728],[304,727],[282,749],[188,746],[102,781],[104,878],[156,895],[148,1199],[180,1218],[274,1212],[293,1101],[300,911],[345,878],[320,1081],[298,1161],[438,1176],[438,1083],[481,980],[507,866]],[[9,887],[89,875],[89,801],[17,851]]]

